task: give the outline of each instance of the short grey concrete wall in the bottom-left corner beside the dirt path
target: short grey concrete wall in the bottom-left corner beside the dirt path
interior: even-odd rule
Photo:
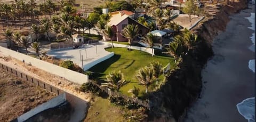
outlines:
[[[50,108],[54,108],[57,107],[58,105],[60,105],[61,103],[67,101],[66,99],[66,94],[60,94],[59,96],[54,97],[52,100],[47,101],[41,105],[39,105],[38,107],[24,113],[23,115],[19,116],[17,118],[18,122],[19,121],[25,121],[27,119],[29,119],[30,117],[33,117],[34,115],[36,115],[39,112],[42,112],[46,109],[50,109]]]

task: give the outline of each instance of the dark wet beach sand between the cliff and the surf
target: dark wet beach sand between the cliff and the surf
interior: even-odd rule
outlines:
[[[185,121],[248,121],[239,114],[236,104],[255,95],[254,72],[248,68],[248,61],[254,59],[248,48],[253,44],[253,30],[245,19],[255,8],[249,8],[230,15],[226,31],[215,37],[214,56],[202,71],[202,98],[189,109]]]

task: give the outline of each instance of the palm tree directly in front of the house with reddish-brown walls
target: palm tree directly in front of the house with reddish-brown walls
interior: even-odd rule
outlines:
[[[128,43],[130,44],[130,50],[131,50],[133,40],[139,35],[138,25],[127,25],[122,30],[121,35],[128,39]]]

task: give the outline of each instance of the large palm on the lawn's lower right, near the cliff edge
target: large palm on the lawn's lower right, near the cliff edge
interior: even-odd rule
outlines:
[[[140,85],[146,86],[146,93],[148,93],[149,85],[155,81],[154,70],[149,67],[139,69],[136,71],[135,77],[139,80]]]

